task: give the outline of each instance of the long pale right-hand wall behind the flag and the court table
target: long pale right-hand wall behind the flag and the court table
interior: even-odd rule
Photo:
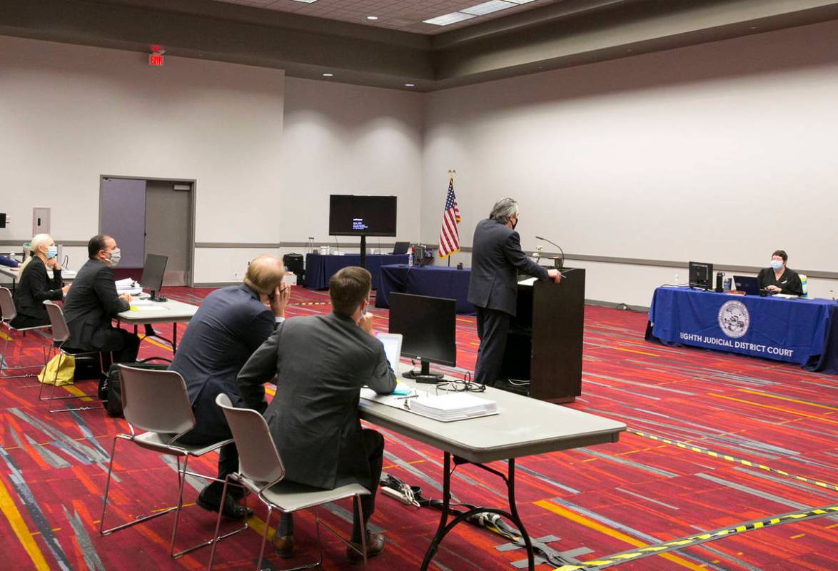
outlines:
[[[838,22],[432,93],[422,239],[457,169],[460,234],[520,201],[522,244],[838,271]],[[546,246],[547,250],[555,248]],[[648,305],[684,268],[587,267],[587,298]],[[825,296],[836,283],[813,280]]]

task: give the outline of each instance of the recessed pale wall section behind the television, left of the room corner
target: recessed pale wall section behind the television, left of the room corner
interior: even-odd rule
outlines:
[[[398,239],[419,240],[422,94],[287,78],[283,242],[304,242],[308,236],[333,240],[328,195],[396,195]],[[339,241],[360,239],[340,236]],[[378,247],[378,239],[368,238],[367,247]]]

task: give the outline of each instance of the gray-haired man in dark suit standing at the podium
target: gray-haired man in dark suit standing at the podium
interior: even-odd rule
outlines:
[[[518,273],[561,281],[558,270],[539,266],[521,250],[517,225],[518,203],[504,198],[494,204],[489,218],[479,221],[474,229],[468,281],[468,301],[477,309],[480,338],[474,381],[490,387],[498,380],[504,362],[506,335],[518,297]]]

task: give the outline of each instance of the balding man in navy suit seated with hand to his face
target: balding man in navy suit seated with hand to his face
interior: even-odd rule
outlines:
[[[195,427],[181,437],[185,444],[213,444],[230,439],[230,426],[215,397],[224,392],[236,406],[243,406],[235,376],[253,351],[285,319],[291,288],[282,283],[284,268],[275,256],[256,257],[247,267],[244,283],[210,293],[189,321],[170,371],[184,377]],[[210,482],[195,502],[205,510],[218,511],[223,480],[239,468],[235,444],[219,451],[218,478]],[[232,492],[241,497],[241,489]],[[241,520],[248,514],[228,496],[222,514]]]

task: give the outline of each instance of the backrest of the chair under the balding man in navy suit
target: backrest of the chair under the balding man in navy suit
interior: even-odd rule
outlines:
[[[120,365],[122,413],[135,428],[181,434],[195,425],[184,377],[176,371]]]

